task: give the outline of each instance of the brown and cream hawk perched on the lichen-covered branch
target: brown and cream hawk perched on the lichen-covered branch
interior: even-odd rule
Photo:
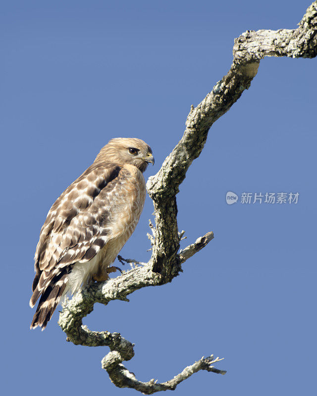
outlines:
[[[143,172],[152,149],[137,138],[114,138],[53,203],[35,252],[30,328],[44,330],[62,297],[104,282],[130,238],[146,198]]]

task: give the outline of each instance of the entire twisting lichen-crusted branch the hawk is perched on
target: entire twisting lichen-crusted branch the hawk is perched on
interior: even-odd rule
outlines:
[[[133,357],[133,344],[119,333],[91,331],[83,326],[82,319],[93,310],[96,302],[106,305],[114,299],[128,301],[127,296],[136,290],[170,282],[181,271],[181,264],[212,240],[213,234],[209,232],[179,251],[183,232],[178,232],[176,205],[179,185],[192,161],[204,148],[212,124],[250,87],[264,56],[313,58],[316,55],[317,1],[307,9],[297,29],[247,31],[235,39],[233,63],[228,73],[215,84],[197,107],[191,107],[183,137],[167,156],[159,172],[150,177],[147,183],[149,196],[154,203],[156,221],[156,228],[150,222],[152,233],[148,234],[152,245],[150,261],[106,283],[91,284],[71,300],[65,301],[59,325],[67,334],[67,341],[76,345],[109,347],[110,352],[103,358],[102,367],[117,387],[133,388],[150,395],[175,389],[177,384],[199,370],[224,374],[224,371],[211,366],[219,359],[213,360],[210,356],[186,367],[170,381],[161,384],[154,380],[138,381],[122,364],[124,360]],[[127,261],[138,264],[137,260]]]

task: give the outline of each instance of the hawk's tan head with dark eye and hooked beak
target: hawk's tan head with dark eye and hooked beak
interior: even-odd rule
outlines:
[[[96,162],[131,164],[144,172],[149,163],[154,165],[154,156],[151,147],[141,139],[115,138],[100,150]]]

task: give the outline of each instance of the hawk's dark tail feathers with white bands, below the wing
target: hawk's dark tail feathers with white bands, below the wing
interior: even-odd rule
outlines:
[[[46,328],[46,325],[52,318],[53,312],[64,293],[67,284],[67,274],[69,268],[64,267],[61,272],[54,275],[44,288],[39,292],[38,287],[35,288],[30,300],[30,305],[34,306],[39,295],[42,293],[36,312],[33,316],[30,328],[35,329],[37,326]],[[39,285],[38,285],[39,286]]]

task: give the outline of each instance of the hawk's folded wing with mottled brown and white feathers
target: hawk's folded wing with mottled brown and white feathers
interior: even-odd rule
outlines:
[[[33,291],[41,292],[58,268],[89,261],[104,247],[112,233],[113,207],[125,194],[129,176],[118,165],[93,164],[57,198],[36,248]]]

